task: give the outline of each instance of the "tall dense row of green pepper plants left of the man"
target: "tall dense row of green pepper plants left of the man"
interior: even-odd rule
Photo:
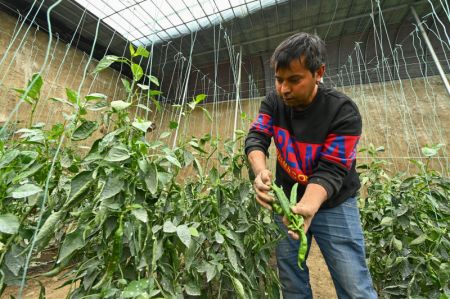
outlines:
[[[20,284],[30,251],[55,248],[42,275],[76,286],[70,298],[279,296],[269,261],[277,228],[253,199],[243,132],[235,141],[205,135],[171,147],[178,124],[149,141],[151,122],[130,118],[133,109],[150,109],[140,97],[159,108],[150,89],[157,78],[134,63],[149,54],[130,46],[131,59],[109,55],[95,70],[128,65],[127,99],[67,89],[66,98],[51,99],[71,107],[64,124],[31,123],[0,141],[2,289]],[[42,85],[36,74],[17,90],[33,111]],[[185,117],[204,98],[186,104]],[[78,142],[100,127],[88,110],[109,130],[79,154]]]

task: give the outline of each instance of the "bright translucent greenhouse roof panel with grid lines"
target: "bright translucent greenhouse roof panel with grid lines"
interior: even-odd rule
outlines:
[[[134,44],[172,40],[287,0],[74,0]]]

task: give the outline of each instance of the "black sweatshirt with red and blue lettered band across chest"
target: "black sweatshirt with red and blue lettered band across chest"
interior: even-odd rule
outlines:
[[[319,184],[328,193],[322,208],[331,208],[355,196],[360,188],[355,157],[361,128],[356,104],[323,84],[302,111],[285,105],[273,92],[261,103],[245,140],[245,153],[260,150],[268,156],[273,138],[277,149],[275,183],[289,196],[298,182],[299,199],[308,183]]]

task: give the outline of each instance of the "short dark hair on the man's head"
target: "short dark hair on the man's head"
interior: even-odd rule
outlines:
[[[270,59],[270,66],[277,71],[305,56],[305,67],[314,73],[325,63],[325,43],[317,35],[305,32],[296,33],[278,45]]]

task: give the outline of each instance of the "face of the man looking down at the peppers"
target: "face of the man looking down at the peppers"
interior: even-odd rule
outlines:
[[[323,76],[322,65],[314,74],[304,66],[304,57],[292,60],[287,68],[275,72],[275,87],[278,95],[288,106],[306,108],[317,94],[317,82]]]

